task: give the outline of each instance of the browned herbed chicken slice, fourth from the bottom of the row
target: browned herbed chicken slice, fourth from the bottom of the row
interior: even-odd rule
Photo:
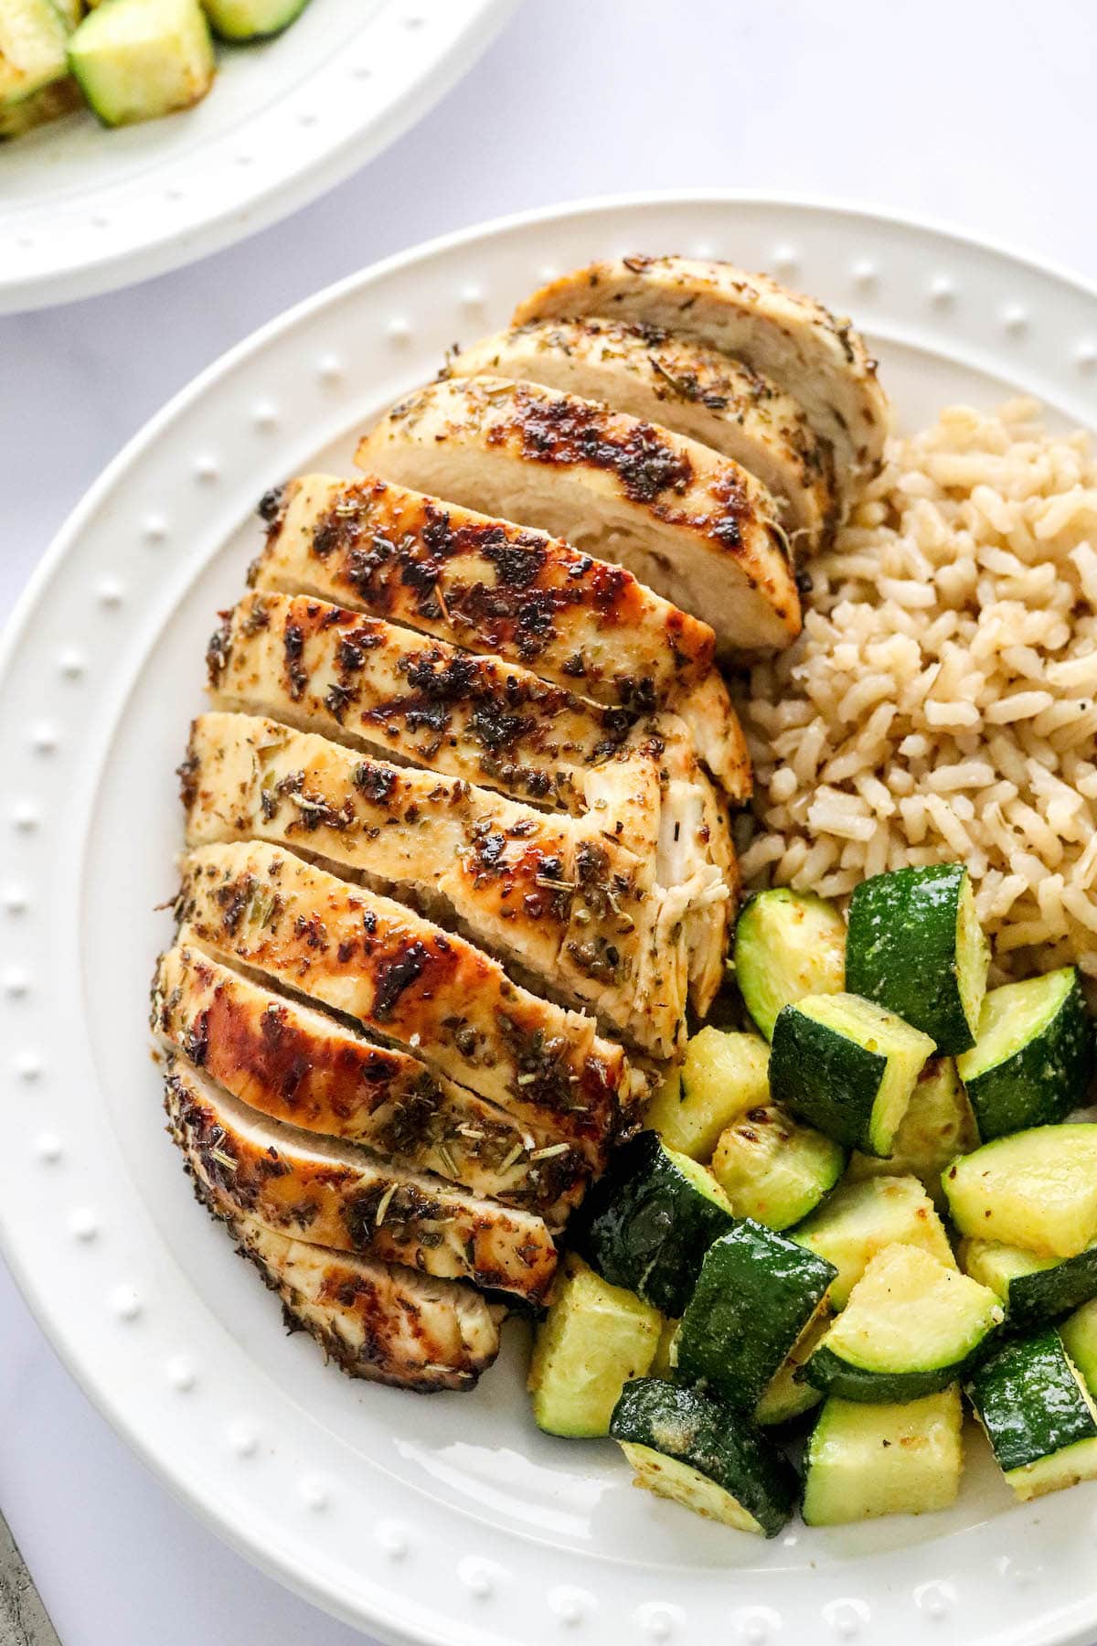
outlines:
[[[204,950],[355,1017],[515,1119],[551,1128],[595,1170],[645,1095],[594,1019],[535,997],[464,938],[278,846],[187,853],[178,915]]]

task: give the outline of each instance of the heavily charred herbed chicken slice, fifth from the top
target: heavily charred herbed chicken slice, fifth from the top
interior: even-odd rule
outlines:
[[[217,708],[248,709],[520,800],[582,807],[581,772],[635,716],[308,597],[248,594],[209,649]]]

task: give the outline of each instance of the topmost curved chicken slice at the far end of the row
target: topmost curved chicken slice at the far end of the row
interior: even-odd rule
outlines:
[[[880,467],[888,402],[849,321],[734,263],[687,257],[623,257],[590,263],[535,291],[515,326],[602,316],[720,349],[794,395],[834,448],[840,497]]]

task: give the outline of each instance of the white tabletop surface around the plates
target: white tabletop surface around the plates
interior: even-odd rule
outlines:
[[[931,216],[1097,280],[1095,54],[1089,0],[526,0],[418,130],[317,206],[132,291],[0,321],[0,614],[109,458],[201,367],[447,229],[735,186]],[[0,1345],[0,1506],[64,1646],[362,1639],[168,1496],[3,1269]]]

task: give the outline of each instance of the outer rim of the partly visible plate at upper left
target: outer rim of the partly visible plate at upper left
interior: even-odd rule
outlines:
[[[255,193],[234,194],[209,217],[184,222],[135,247],[81,260],[62,268],[38,270],[5,278],[0,273],[0,316],[31,314],[86,298],[125,291],[130,286],[173,273],[224,252],[303,211],[340,183],[377,160],[398,138],[419,123],[472,69],[515,16],[520,0],[462,0],[470,7],[461,33],[447,46],[426,51],[408,95],[383,109],[380,117],[321,150],[288,181],[268,179]],[[363,25],[368,28],[368,23]],[[426,31],[423,31],[426,33]],[[308,81],[301,82],[303,86]],[[235,142],[243,127],[230,128],[215,142]],[[87,196],[92,211],[97,193]],[[102,239],[102,235],[100,235]],[[89,245],[94,242],[89,237]]]

